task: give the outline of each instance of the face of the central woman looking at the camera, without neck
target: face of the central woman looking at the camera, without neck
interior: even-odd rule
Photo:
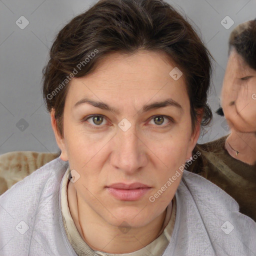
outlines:
[[[169,75],[174,67],[161,52],[114,53],[70,81],[63,138],[53,125],[61,159],[75,170],[78,201],[112,225],[144,226],[165,210],[181,175],[169,178],[199,136],[199,125],[191,134],[184,76]],[[136,182],[146,188],[113,185]]]

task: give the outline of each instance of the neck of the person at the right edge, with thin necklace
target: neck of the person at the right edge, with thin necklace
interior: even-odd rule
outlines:
[[[225,149],[232,157],[244,163],[256,164],[255,132],[238,132],[232,129],[226,138]]]

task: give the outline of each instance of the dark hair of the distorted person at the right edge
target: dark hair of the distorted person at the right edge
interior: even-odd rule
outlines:
[[[235,49],[249,67],[256,70],[256,19],[236,26],[229,36],[229,49]]]

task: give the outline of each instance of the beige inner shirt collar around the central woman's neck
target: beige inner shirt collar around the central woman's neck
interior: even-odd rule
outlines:
[[[67,200],[67,185],[70,181],[68,179],[68,174],[70,175],[70,169],[67,168],[64,177],[62,179],[61,184],[61,213],[62,213],[62,220],[63,225],[65,228],[65,232],[67,238],[73,247],[74,251],[78,256],[86,255],[86,256],[161,256],[164,250],[166,249],[170,237],[172,234],[172,230],[175,223],[175,215],[176,215],[176,199],[175,196],[173,197],[172,201],[167,206],[166,216],[162,225],[162,229],[159,232],[159,236],[154,239],[152,242],[147,244],[145,247],[136,250],[130,253],[122,253],[122,254],[112,254],[106,253],[102,251],[96,251],[91,249],[88,244],[82,239],[80,236],[74,221],[71,217],[69,207],[68,207],[68,200]]]

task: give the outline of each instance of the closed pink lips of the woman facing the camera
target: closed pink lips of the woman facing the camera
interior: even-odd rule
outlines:
[[[135,201],[147,193],[151,187],[139,182],[125,184],[114,183],[106,187],[115,198],[124,201]]]

